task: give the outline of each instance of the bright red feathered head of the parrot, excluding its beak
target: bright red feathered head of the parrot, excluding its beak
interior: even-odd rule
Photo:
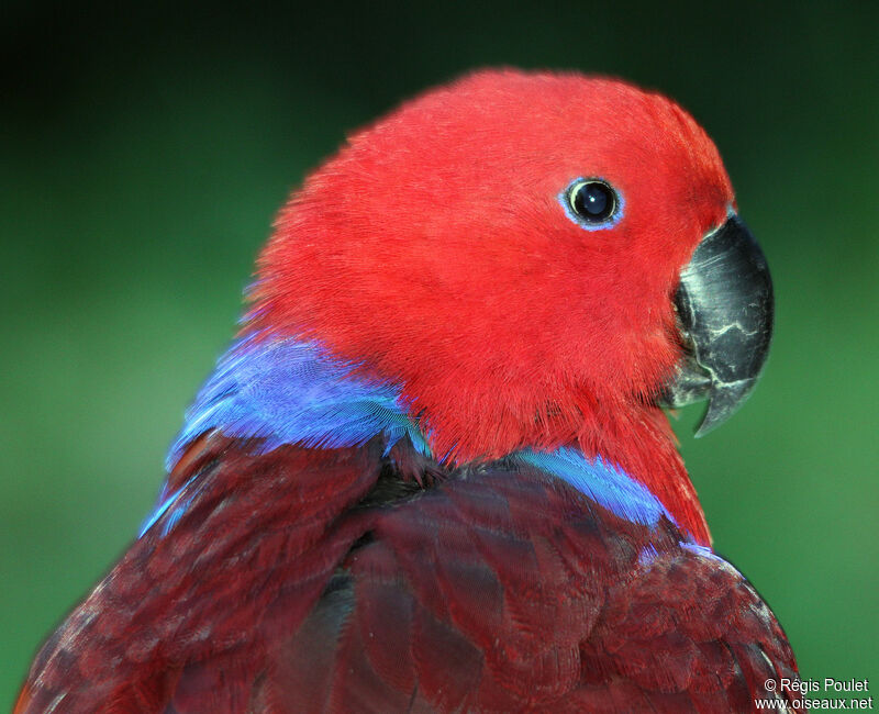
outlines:
[[[714,144],[665,97],[481,71],[309,177],[262,255],[252,321],[400,384],[435,454],[579,442],[646,478],[674,451],[660,398],[712,379],[687,332],[708,331],[687,311],[711,291],[696,276],[676,295],[705,236],[733,221],[742,237],[733,201]],[[688,364],[701,381],[674,389]]]

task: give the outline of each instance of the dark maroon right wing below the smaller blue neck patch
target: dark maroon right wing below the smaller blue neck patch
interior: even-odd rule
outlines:
[[[408,692],[442,711],[746,712],[766,679],[795,676],[728,564],[537,472],[448,481],[381,510],[371,536],[346,561],[340,709],[323,711],[403,711]],[[303,629],[293,652],[326,639]],[[376,678],[393,693],[347,699]]]

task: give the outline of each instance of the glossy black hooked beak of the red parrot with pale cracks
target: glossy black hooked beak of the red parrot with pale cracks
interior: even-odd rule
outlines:
[[[757,383],[772,338],[772,280],[760,246],[737,215],[706,235],[675,293],[688,349],[663,401],[683,406],[708,399],[696,432],[725,422]]]

